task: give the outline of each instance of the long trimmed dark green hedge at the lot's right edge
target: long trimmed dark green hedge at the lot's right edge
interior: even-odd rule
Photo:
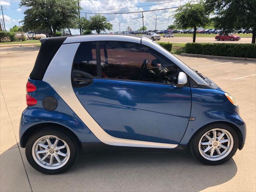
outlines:
[[[191,54],[256,58],[256,44],[187,43],[185,52]]]

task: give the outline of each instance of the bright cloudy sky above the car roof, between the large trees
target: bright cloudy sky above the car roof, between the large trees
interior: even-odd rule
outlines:
[[[81,12],[97,12],[97,13],[118,13],[118,12],[136,12],[143,10],[155,10],[162,8],[170,8],[180,6],[185,4],[188,0],[181,0],[171,3],[159,4],[154,6],[147,7],[135,7],[135,8],[127,8],[121,10],[108,10],[108,9],[117,9],[117,8],[126,8],[126,7],[134,7],[138,6],[141,0],[81,0],[81,7],[83,10]],[[147,2],[147,1],[145,1]],[[169,0],[164,1],[148,1],[147,4],[158,4],[162,2],[169,2]],[[89,11],[91,10],[91,11]],[[93,10],[107,10],[107,11],[93,11]],[[175,9],[169,10],[159,10],[153,12],[143,12],[144,15],[144,26],[147,27],[148,30],[155,29],[155,15],[157,15],[157,30],[164,30],[168,25],[173,24],[173,17]],[[93,14],[87,14],[87,19]],[[81,13],[81,16],[85,17],[85,13]],[[111,14],[104,15],[107,17],[109,22],[113,24],[112,31],[119,31],[119,23],[121,31],[125,31],[128,26],[131,27],[132,30],[138,30],[142,26],[142,18],[141,13],[133,13],[133,14]]]

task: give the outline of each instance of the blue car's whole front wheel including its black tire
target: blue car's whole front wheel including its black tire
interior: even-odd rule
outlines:
[[[206,138],[206,134],[213,139],[214,134],[212,132],[214,132],[214,130],[216,130],[217,139],[211,142],[212,144],[208,145],[208,143],[210,143],[210,140]],[[224,133],[224,136],[218,140],[218,137],[221,137],[223,133]],[[207,140],[208,142],[206,142]],[[222,141],[222,143],[220,141]],[[212,124],[210,126],[207,126],[199,130],[191,138],[189,142],[189,147],[190,147],[191,153],[198,161],[206,165],[219,165],[219,164],[223,164],[224,162],[227,162],[232,158],[232,156],[234,156],[234,154],[236,153],[236,150],[238,149],[238,144],[239,144],[239,140],[238,140],[238,135],[236,131],[232,127],[226,124],[218,123],[218,124]],[[224,149],[222,147],[225,147],[227,149]],[[206,151],[207,149],[208,151]],[[214,149],[213,154],[212,154],[212,149]],[[212,157],[211,157],[211,154],[212,154]]]

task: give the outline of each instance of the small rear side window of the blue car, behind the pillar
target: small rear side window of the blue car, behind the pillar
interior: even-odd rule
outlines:
[[[81,43],[73,62],[73,70],[80,70],[97,76],[95,42]]]

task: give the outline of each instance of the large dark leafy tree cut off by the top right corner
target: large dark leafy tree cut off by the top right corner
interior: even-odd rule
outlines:
[[[216,28],[226,31],[252,28],[252,43],[255,43],[256,0],[206,0],[206,8],[216,13]]]

